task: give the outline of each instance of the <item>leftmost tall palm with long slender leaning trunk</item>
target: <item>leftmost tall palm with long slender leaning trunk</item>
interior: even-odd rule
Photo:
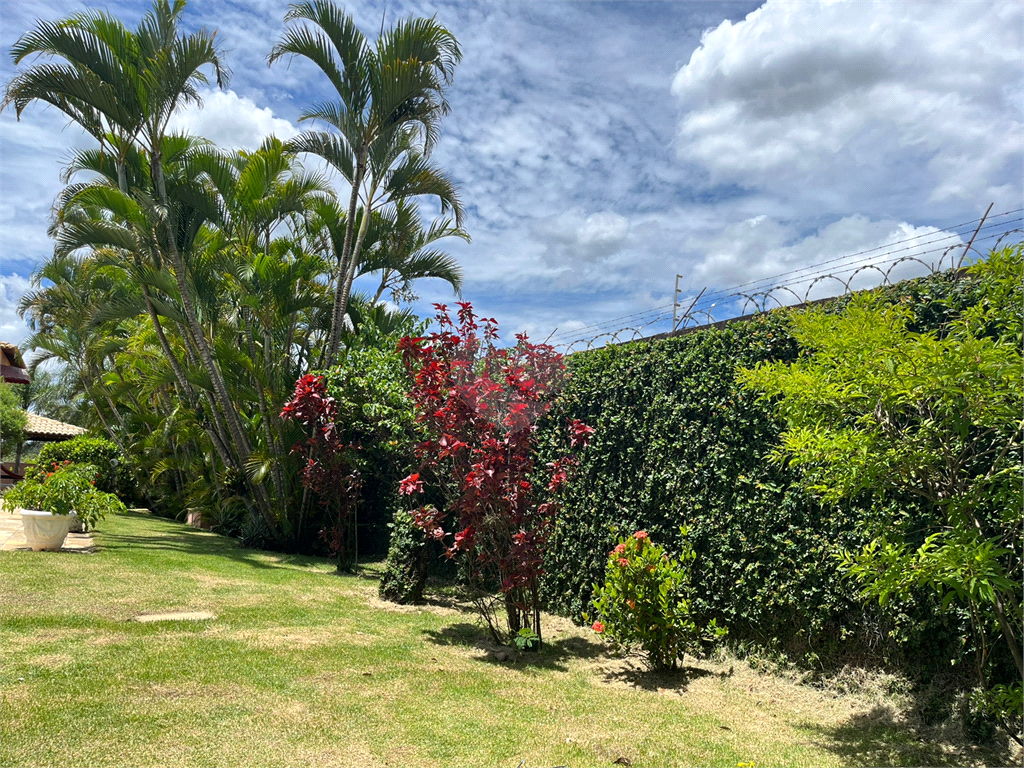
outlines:
[[[212,68],[218,85],[224,86],[227,70],[221,62],[214,35],[201,30],[181,35],[179,24],[184,0],[156,0],[138,27],[130,31],[121,22],[102,12],[76,14],[61,22],[40,22],[23,36],[12,49],[15,63],[41,54],[60,62],[35,63],[8,85],[4,105],[13,103],[20,117],[34,100],[50,103],[99,138],[118,147],[118,186],[126,191],[122,162],[128,146],[144,151],[150,162],[153,188],[146,195],[162,208],[162,228],[171,272],[176,283],[187,326],[189,345],[211,383],[213,398],[231,444],[222,446],[225,460],[244,470],[252,444],[231,401],[204,325],[200,322],[189,287],[186,265],[178,244],[178,210],[171,205],[164,156],[168,123],[182,104],[201,101],[198,86],[208,81],[202,72]],[[130,189],[127,191],[131,191]],[[146,297],[152,303],[150,297]],[[156,311],[151,316],[159,324]],[[165,353],[173,360],[169,347]],[[185,391],[189,383],[179,366],[175,376]],[[276,531],[274,512],[261,483],[249,483],[253,501],[271,531]]]

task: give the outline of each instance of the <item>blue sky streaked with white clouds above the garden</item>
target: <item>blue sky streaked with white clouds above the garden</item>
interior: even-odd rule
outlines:
[[[85,5],[130,25],[146,7]],[[37,17],[82,7],[0,3],[0,79],[13,75],[7,51]],[[370,35],[385,13],[436,14],[462,45],[434,158],[466,204],[473,241],[450,245],[464,297],[498,317],[506,338],[557,329],[555,340],[568,342],[646,323],[645,332],[664,331],[677,274],[680,300],[707,289],[705,307],[774,275],[803,280],[795,288],[804,292],[829,269],[934,261],[970,238],[989,203],[993,214],[1024,207],[1016,0],[347,7]],[[269,133],[295,135],[302,108],[331,98],[311,65],[266,66],[286,10],[270,0],[189,2],[186,27],[218,30],[233,76],[202,111],[180,115],[180,127],[254,147]],[[19,123],[0,115],[0,338],[25,335],[16,302],[50,250],[60,167],[87,143],[52,110],[30,108]],[[1020,217],[990,219],[979,247]],[[437,282],[417,291],[423,314],[453,298]],[[739,308],[720,303],[717,316]]]

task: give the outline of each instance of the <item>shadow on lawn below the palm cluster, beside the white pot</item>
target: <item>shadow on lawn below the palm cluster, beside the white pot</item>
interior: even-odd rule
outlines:
[[[238,542],[233,539],[211,534],[208,530],[199,530],[184,523],[157,517],[145,512],[128,512],[121,516],[160,521],[163,523],[162,529],[151,535],[104,531],[102,532],[102,548],[105,550],[121,549],[138,552],[179,552],[185,555],[210,555],[263,569],[322,567],[325,563],[324,558],[310,555],[244,549],[239,547]]]

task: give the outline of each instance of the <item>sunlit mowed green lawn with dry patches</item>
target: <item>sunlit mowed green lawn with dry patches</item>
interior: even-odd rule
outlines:
[[[498,660],[472,612],[377,598],[371,573],[244,550],[142,513],[94,554],[0,556],[0,764],[977,764],[871,702],[738,663],[656,677],[547,621]],[[209,622],[139,624],[206,610]]]

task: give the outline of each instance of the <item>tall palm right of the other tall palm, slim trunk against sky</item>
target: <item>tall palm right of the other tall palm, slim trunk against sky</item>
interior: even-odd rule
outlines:
[[[462,51],[455,37],[430,18],[409,18],[382,32],[371,45],[332,0],[291,6],[286,30],[268,62],[285,55],[308,58],[328,77],[338,100],[314,104],[300,120],[318,120],[333,132],[308,131],[291,142],[298,152],[324,158],[351,191],[344,239],[334,273],[334,304],[326,361],[338,353],[352,281],[374,210],[419,195],[436,196],[441,212],[462,224],[462,205],[452,180],[427,155],[438,123],[449,112],[444,88]],[[356,208],[364,216],[356,233]],[[354,240],[354,242],[353,242]]]

